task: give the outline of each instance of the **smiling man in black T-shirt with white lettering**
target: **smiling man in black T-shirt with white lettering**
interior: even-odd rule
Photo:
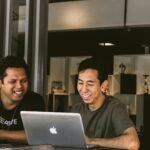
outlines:
[[[26,143],[20,111],[45,111],[42,96],[29,90],[29,70],[22,58],[0,60],[0,143]]]

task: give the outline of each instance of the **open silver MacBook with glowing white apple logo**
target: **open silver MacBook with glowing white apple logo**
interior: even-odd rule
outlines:
[[[21,111],[21,117],[30,145],[94,147],[85,143],[83,124],[78,113]]]

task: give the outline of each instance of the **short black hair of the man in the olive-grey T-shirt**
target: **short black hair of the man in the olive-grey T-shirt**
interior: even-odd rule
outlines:
[[[102,83],[103,81],[107,80],[107,78],[108,78],[108,74],[105,71],[104,66],[102,66],[102,64],[100,64],[93,57],[84,59],[83,61],[81,61],[79,63],[78,74],[81,71],[84,71],[86,69],[94,69],[94,70],[96,70],[97,73],[98,73],[98,79],[100,80],[100,83]]]

